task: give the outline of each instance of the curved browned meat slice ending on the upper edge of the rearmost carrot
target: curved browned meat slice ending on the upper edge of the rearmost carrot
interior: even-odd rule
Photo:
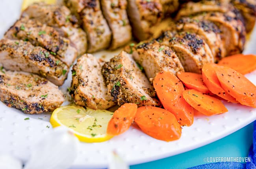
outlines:
[[[245,46],[245,26],[241,15],[236,9],[226,13],[203,13],[194,17],[199,20],[210,20],[221,30],[221,39],[226,49],[226,55],[241,53]]]

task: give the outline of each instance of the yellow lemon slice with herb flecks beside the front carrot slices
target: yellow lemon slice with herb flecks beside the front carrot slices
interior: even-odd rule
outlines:
[[[109,140],[113,136],[106,134],[108,122],[113,112],[93,110],[76,105],[59,107],[52,113],[52,127],[66,126],[80,141],[93,143]]]

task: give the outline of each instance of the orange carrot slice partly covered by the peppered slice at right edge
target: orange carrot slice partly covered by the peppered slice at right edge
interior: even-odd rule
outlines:
[[[225,90],[221,87],[221,83],[217,78],[215,70],[217,70],[220,66],[214,63],[204,64],[202,68],[202,78],[204,84],[208,87],[208,89],[219,97],[230,101],[232,103],[238,103],[234,97],[225,92]]]

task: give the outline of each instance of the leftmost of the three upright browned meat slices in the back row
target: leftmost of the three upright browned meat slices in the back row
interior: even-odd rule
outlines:
[[[87,33],[88,53],[109,47],[111,31],[100,10],[99,0],[86,1],[85,8],[80,12],[83,29]]]

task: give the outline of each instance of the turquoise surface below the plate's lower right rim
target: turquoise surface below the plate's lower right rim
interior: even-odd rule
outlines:
[[[204,147],[154,162],[132,165],[130,169],[186,169],[206,164],[204,158],[207,157],[247,157],[252,145],[252,133],[253,124],[251,123]]]

